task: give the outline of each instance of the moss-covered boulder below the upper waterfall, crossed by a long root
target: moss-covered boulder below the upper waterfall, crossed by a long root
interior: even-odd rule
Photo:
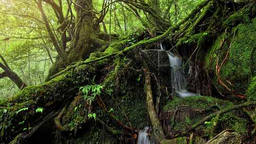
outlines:
[[[233,104],[222,99],[212,97],[194,96],[184,99],[176,98],[169,101],[165,106],[165,121],[167,131],[178,131],[186,129],[199,122],[203,117],[210,115],[220,109],[232,107]],[[175,118],[174,118],[175,115]],[[203,133],[199,133],[202,137],[212,137],[224,129],[234,129],[241,135],[245,135],[247,131],[247,120],[238,117],[233,112],[226,113],[220,117],[213,117],[210,121],[206,121],[203,126]]]

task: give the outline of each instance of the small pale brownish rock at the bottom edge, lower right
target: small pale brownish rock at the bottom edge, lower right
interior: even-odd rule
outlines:
[[[236,132],[225,132],[209,142],[206,144],[242,144],[242,136]]]

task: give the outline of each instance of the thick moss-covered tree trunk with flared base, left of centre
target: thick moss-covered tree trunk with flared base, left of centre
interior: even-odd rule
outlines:
[[[56,58],[46,81],[50,80],[52,75],[65,68],[67,65],[80,60],[85,60],[97,48],[107,44],[105,40],[102,40],[97,36],[101,30],[97,17],[93,12],[92,0],[75,0],[74,3],[76,19],[71,49],[67,52],[66,62],[64,62],[61,55]]]

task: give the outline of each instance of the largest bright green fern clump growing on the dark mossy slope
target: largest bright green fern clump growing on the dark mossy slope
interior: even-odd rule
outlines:
[[[82,91],[84,99],[91,105],[91,102],[94,101],[96,96],[101,95],[101,90],[104,86],[99,84],[87,85],[84,87],[80,87],[79,91]]]

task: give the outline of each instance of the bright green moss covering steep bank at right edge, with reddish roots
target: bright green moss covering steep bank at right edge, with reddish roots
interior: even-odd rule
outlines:
[[[228,90],[224,89],[217,81],[216,63],[219,57],[219,65],[224,60],[229,49],[229,56],[223,63],[220,70],[220,78],[236,94],[245,94],[251,76],[256,71],[256,18],[251,23],[239,24],[232,31],[220,35],[208,50],[205,57],[206,69],[213,73],[213,82],[224,95],[231,95]],[[233,33],[236,33],[233,41]],[[223,47],[220,49],[220,41],[227,38]],[[233,43],[232,43],[233,42]],[[239,71],[238,71],[239,70]]]

